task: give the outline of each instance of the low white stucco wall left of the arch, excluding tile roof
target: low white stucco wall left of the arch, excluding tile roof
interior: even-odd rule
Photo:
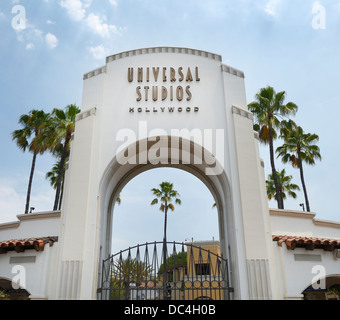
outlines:
[[[0,241],[57,237],[60,230],[60,212],[44,212],[18,216],[13,223],[0,225]],[[56,272],[58,242],[46,244],[43,251],[9,251],[0,254],[0,278],[10,282],[20,279],[21,288],[31,299],[52,297]]]

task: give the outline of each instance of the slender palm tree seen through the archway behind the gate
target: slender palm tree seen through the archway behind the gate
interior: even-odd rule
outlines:
[[[171,211],[175,210],[175,207],[172,203],[174,200],[176,204],[180,205],[182,202],[178,198],[179,193],[173,189],[173,184],[170,182],[162,182],[160,185],[160,189],[153,188],[151,191],[156,196],[155,199],[152,200],[151,205],[158,204],[158,199],[160,199],[161,206],[160,210],[164,212],[164,236],[163,236],[163,297],[164,299],[167,299],[167,288],[166,288],[166,282],[167,282],[167,248],[166,248],[166,227],[167,227],[167,215],[168,210]]]

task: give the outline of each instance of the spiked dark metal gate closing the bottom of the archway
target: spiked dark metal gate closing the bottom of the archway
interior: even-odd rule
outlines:
[[[100,300],[230,300],[228,260],[193,244],[137,245],[103,261]]]

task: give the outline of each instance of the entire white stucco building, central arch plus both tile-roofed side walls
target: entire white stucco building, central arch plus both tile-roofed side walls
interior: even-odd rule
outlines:
[[[84,75],[81,109],[62,211],[0,226],[0,287],[24,273],[31,299],[96,299],[115,200],[155,167],[186,170],[214,196],[234,299],[301,299],[320,278],[324,291],[340,284],[340,224],[268,209],[244,74],[220,55],[157,47],[107,57]]]

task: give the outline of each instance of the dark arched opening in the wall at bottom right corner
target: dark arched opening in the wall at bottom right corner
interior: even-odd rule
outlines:
[[[304,300],[340,300],[340,275],[329,275],[303,292]]]

